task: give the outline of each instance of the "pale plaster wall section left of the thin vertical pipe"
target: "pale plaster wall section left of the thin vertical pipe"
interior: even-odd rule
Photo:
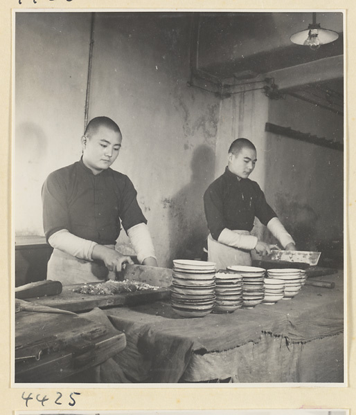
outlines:
[[[12,205],[17,235],[42,235],[42,183],[80,158],[90,39],[85,13],[17,13]]]

